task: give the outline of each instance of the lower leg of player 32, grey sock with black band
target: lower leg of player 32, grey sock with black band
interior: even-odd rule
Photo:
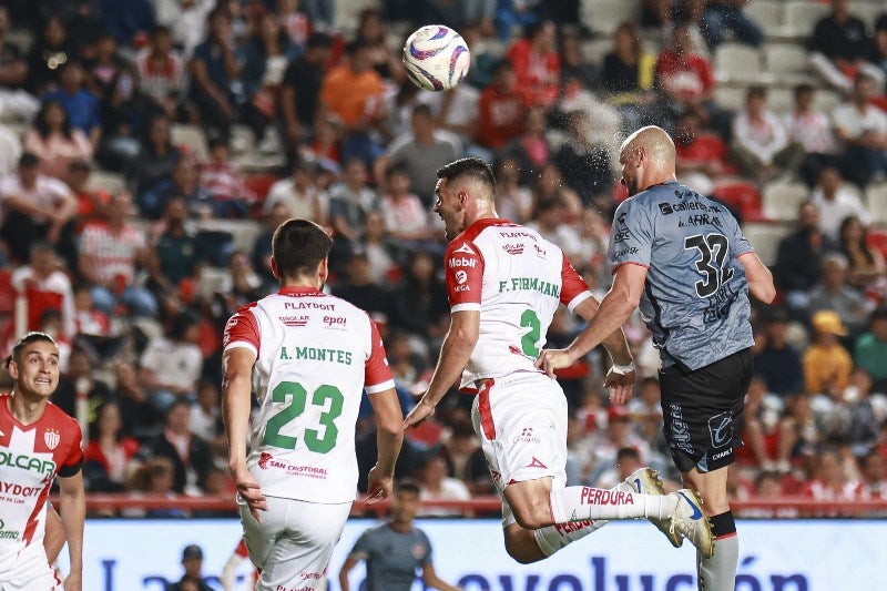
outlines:
[[[700,589],[705,591],[733,591],[736,584],[736,565],[740,559],[740,539],[736,522],[727,502],[727,470],[730,466],[702,473],[697,469],[683,472],[684,486],[696,489],[705,505],[703,512],[712,522],[714,556],[699,557]]]

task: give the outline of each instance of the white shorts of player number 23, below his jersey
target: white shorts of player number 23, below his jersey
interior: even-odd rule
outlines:
[[[320,505],[265,497],[262,523],[242,501],[241,522],[249,560],[259,570],[256,591],[326,589],[326,567],[351,503]]]

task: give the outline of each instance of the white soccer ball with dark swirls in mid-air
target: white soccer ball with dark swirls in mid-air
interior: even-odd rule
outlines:
[[[442,24],[428,24],[409,35],[400,59],[412,83],[430,91],[453,88],[471,63],[462,35]]]

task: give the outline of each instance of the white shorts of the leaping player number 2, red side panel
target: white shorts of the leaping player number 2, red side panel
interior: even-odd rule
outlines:
[[[544,477],[552,490],[567,486],[567,397],[557,381],[531,373],[488,379],[471,419],[499,495],[512,482]],[[503,499],[502,527],[514,522]]]

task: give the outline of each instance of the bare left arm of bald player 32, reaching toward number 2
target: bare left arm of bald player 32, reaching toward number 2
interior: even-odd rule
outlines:
[[[541,367],[549,376],[554,377],[555,369],[570,367],[577,359],[604,340],[608,340],[614,347],[614,350],[622,346],[628,347],[624,344],[619,345],[613,339],[613,334],[618,330],[621,332],[622,325],[629,319],[632,310],[638,307],[645,281],[646,267],[633,264],[619,267],[613,277],[613,286],[604,296],[585,329],[565,349],[543,350],[539,359],[536,360],[536,366]],[[624,336],[621,338],[624,340]],[[612,356],[613,351],[610,351],[610,354]],[[630,354],[628,357],[631,359]],[[621,355],[620,358],[624,360]]]

